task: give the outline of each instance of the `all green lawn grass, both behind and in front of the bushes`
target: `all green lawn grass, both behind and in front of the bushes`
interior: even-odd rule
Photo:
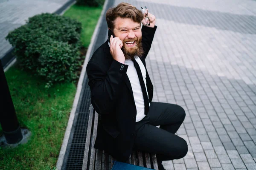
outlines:
[[[72,6],[65,16],[82,22],[81,40],[88,47],[102,7]],[[55,169],[76,94],[74,83],[53,85],[13,66],[6,73],[20,126],[32,135],[26,144],[0,148],[0,170]],[[0,127],[0,134],[3,134]]]

